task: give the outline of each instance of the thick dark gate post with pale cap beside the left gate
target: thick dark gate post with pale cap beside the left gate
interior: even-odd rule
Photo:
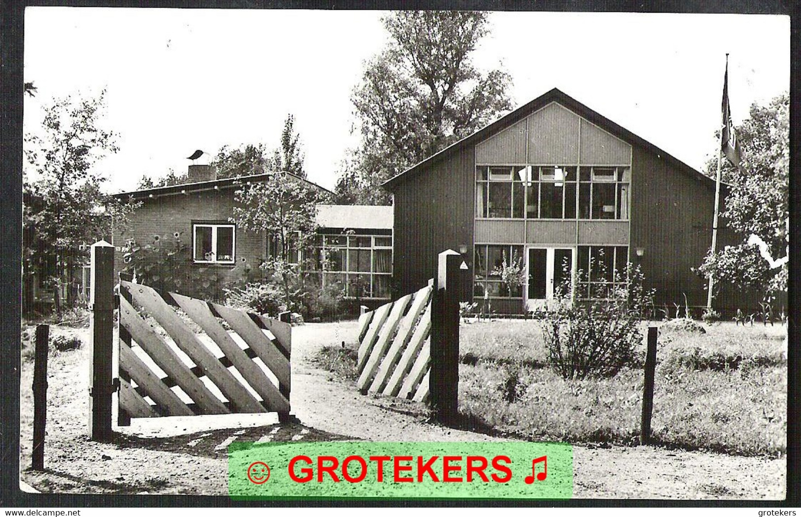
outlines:
[[[91,246],[91,387],[89,433],[99,442],[111,440],[112,351],[114,347],[114,246]]]

